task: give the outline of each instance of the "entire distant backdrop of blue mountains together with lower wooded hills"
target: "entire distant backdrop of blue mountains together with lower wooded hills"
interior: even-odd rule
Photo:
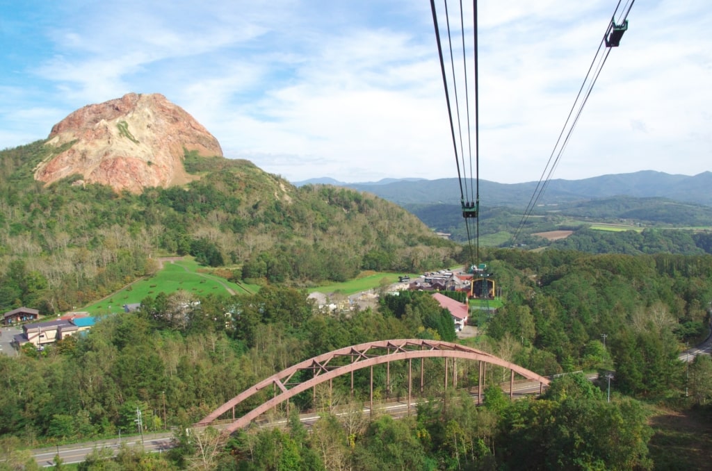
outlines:
[[[595,223],[612,223],[629,228],[683,228],[689,240],[693,230],[712,228],[712,200],[709,184],[712,173],[696,176],[669,175],[656,171],[634,174],[604,175],[577,181],[552,180],[531,215],[523,220],[536,182],[498,184],[480,181],[479,243],[493,247],[524,245],[546,247],[550,242],[532,237],[545,231],[578,231]],[[336,182],[337,183],[337,182]],[[459,185],[456,179],[384,181],[373,184],[341,184],[381,196],[414,213],[434,231],[449,233],[451,240],[465,242],[468,238],[461,218]],[[704,245],[677,245],[671,233],[666,247],[672,253],[700,253]],[[516,235],[516,237],[515,237]],[[606,235],[611,241],[615,235]],[[579,245],[579,250],[592,250],[591,244]],[[621,245],[621,247],[617,247]],[[599,245],[594,253],[636,253],[627,242]],[[572,244],[572,247],[577,244]],[[692,250],[690,250],[692,248]],[[651,248],[637,248],[650,253]],[[710,253],[710,252],[706,252]]]

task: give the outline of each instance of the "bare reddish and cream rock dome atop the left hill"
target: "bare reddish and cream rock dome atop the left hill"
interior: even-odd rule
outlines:
[[[75,141],[38,165],[35,179],[51,183],[79,174],[87,183],[140,193],[194,179],[183,166],[184,149],[220,156],[217,139],[181,107],[159,94],[129,93],[88,105],[54,125],[48,145]]]

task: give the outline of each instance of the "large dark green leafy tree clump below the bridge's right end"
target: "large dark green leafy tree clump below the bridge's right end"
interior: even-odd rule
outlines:
[[[607,403],[574,388],[568,383],[554,400],[515,401],[506,410],[503,461],[530,470],[651,469],[652,430],[642,404]]]

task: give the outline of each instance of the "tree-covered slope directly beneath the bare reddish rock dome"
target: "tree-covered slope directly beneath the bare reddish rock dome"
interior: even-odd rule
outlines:
[[[60,150],[38,141],[0,152],[0,309],[80,307],[152,273],[160,255],[293,285],[431,269],[459,256],[393,203],[330,186],[296,189],[247,161],[187,153],[198,181],[142,194],[78,176],[34,181],[36,164]]]

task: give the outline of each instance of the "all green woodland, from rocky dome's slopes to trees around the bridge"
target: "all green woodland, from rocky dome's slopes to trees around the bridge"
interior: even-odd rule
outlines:
[[[330,186],[295,189],[249,162],[186,154],[187,169],[203,179],[115,194],[73,178],[36,183],[31,169],[46,152],[41,143],[0,152],[0,309],[79,308],[150,277],[157,255],[190,254],[261,289],[191,297],[199,302],[157,293],[137,312],[101,317],[85,336],[0,355],[0,469],[31,469],[28,447],[135,433],[137,409],[146,431],[175,430],[176,446],[161,455],[124,448],[115,458],[96,451],[80,469],[629,470],[708,462],[698,445],[684,458],[666,448],[654,418],[709,416],[712,361],[686,364],[679,354],[708,333],[712,256],[669,253],[654,233],[641,237],[659,249],[637,255],[482,249],[503,307],[478,311],[471,319],[478,335],[457,340],[542,375],[612,374],[610,401],[607,383],[573,374],[540,398],[511,402],[497,386],[508,372],[493,367],[476,407],[463,391],[444,393],[443,364],[434,359],[407,418],[364,415],[370,377],[361,371],[354,396],[347,379],[336,379],[331,393],[295,396],[291,414],[276,408],[268,419],[284,418],[286,428],[229,439],[211,428],[190,433],[216,406],[317,354],[377,339],[456,340],[449,313],[427,292],[323,312],[305,287],[361,270],[434,270],[464,263],[466,254],[392,203]],[[404,396],[406,369],[392,364],[387,384],[375,368],[375,398]],[[458,363],[461,388],[477,376],[475,366]],[[320,419],[305,428],[297,410]]]

